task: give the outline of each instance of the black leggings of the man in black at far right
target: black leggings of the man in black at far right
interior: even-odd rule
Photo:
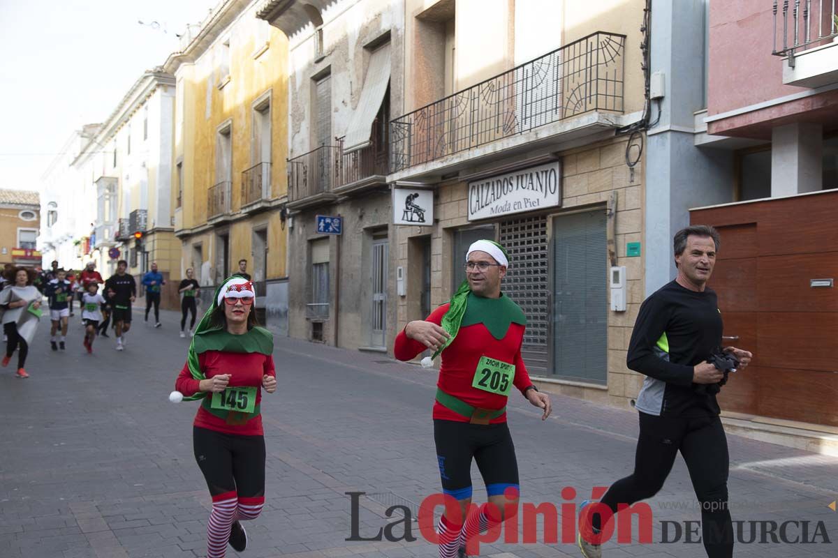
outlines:
[[[701,505],[704,550],[710,558],[730,558],[733,555],[733,528],[727,509],[730,460],[722,421],[716,416],[655,417],[644,412],[639,415],[634,473],[612,484],[602,503],[616,513],[617,504],[631,505],[651,498],[663,487],[675,463],[675,454],[680,451]],[[601,528],[599,514],[593,514],[592,525]]]

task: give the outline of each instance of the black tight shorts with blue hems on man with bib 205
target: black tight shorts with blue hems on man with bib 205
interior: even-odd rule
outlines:
[[[518,489],[518,461],[506,422],[470,424],[433,421],[442,492],[462,500],[471,498],[471,462],[477,462],[489,496]]]

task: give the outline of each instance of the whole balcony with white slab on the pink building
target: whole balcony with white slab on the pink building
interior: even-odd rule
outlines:
[[[779,11],[778,4],[771,54],[784,57],[783,83],[810,89],[838,83],[838,0],[784,2]]]

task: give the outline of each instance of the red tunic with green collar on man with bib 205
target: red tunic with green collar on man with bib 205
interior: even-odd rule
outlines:
[[[453,340],[442,350],[437,388],[471,407],[504,409],[508,396],[487,392],[473,384],[476,382],[475,375],[479,373],[481,359],[487,357],[515,365],[512,383],[522,394],[532,385],[521,357],[526,327],[524,312],[505,294],[501,294],[498,299],[487,299],[470,292],[468,284],[464,283],[452,302],[434,310],[427,321],[442,325],[443,317],[452,305],[457,305],[458,295],[465,303],[465,310],[458,329],[455,328]],[[427,347],[419,341],[409,339],[404,330],[396,336],[394,353],[400,361],[409,361],[425,349]],[[442,405],[439,397],[433,406],[433,418],[457,422],[469,422],[471,419]],[[506,422],[505,412],[489,421],[490,424],[498,422]]]

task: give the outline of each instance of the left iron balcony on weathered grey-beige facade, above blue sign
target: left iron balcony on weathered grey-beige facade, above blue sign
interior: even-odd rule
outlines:
[[[303,209],[337,198],[333,189],[339,184],[341,172],[340,146],[320,146],[288,160],[289,209]]]

